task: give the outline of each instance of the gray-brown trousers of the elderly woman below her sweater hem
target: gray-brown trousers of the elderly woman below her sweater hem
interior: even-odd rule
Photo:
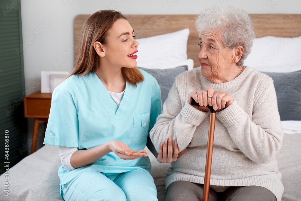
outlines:
[[[172,182],[166,190],[165,201],[201,201],[203,184],[188,181]],[[229,187],[222,193],[210,188],[209,201],[276,201],[275,195],[260,186]]]

